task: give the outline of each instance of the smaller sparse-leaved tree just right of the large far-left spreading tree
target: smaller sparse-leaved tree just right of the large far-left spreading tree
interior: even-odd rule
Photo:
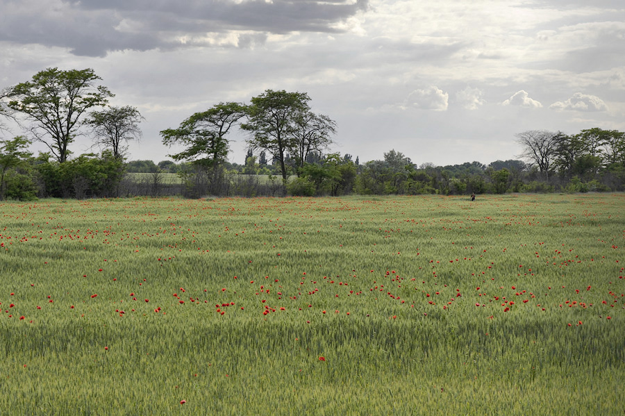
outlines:
[[[94,142],[113,151],[115,158],[122,158],[126,151],[124,142],[139,140],[139,123],[144,119],[135,107],[110,107],[93,111],[85,124],[93,128]]]

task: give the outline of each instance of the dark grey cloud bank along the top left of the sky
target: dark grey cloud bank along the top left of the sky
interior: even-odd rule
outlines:
[[[227,44],[224,39],[247,47],[267,33],[340,33],[341,22],[366,10],[367,0],[10,0],[3,8],[0,40],[105,56]]]

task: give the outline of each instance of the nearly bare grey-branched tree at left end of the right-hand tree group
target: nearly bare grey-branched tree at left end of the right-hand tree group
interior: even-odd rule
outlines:
[[[553,158],[561,136],[560,131],[554,133],[546,130],[530,130],[517,134],[517,143],[523,149],[520,156],[530,160],[530,165],[536,165],[547,181],[549,172],[553,169]]]

